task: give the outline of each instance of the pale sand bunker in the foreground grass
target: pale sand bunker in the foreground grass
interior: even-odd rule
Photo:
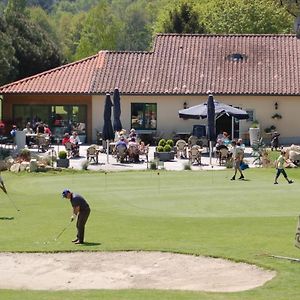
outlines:
[[[161,252],[0,253],[0,288],[245,291],[276,275],[245,263]]]

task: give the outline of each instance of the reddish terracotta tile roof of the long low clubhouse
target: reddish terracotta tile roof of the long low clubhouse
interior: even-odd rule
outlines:
[[[152,52],[100,51],[0,93],[103,94],[115,87],[123,94],[300,95],[300,39],[160,34]]]

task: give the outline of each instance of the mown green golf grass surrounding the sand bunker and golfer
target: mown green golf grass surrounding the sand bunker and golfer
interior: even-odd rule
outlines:
[[[17,212],[0,194],[0,251],[160,250],[245,261],[274,269],[265,286],[239,293],[153,290],[0,291],[0,299],[300,299],[300,264],[265,254],[299,257],[294,236],[300,171],[287,170],[274,186],[274,169],[250,169],[247,180],[225,171],[2,173]],[[87,245],[73,245],[70,188],[86,197],[92,213]],[[45,243],[47,242],[47,243]]]

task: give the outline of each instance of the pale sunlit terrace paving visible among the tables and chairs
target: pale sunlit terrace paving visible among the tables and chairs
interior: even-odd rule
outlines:
[[[86,150],[88,145],[81,145],[80,146],[80,157],[78,158],[71,158],[70,159],[70,168],[82,169],[82,164],[86,162]],[[62,145],[54,145],[50,148],[54,149],[56,153],[60,150],[64,150],[64,146]],[[154,150],[155,147],[149,148],[149,163],[148,168],[150,168],[150,162],[154,160]],[[32,149],[31,151],[37,152],[37,149]],[[245,150],[245,161],[249,164],[250,167],[254,167],[253,165],[253,157],[250,156],[252,149],[246,148]],[[109,155],[108,162],[107,162],[107,154],[100,153],[99,154],[99,163],[95,164],[91,162],[88,166],[88,170],[94,171],[129,171],[129,170],[147,170],[147,162],[146,157],[144,155],[140,156],[140,163],[120,163],[117,162],[116,158],[112,155]],[[212,157],[212,164],[210,165],[210,158],[208,151],[204,151],[202,154],[201,165],[192,165],[192,170],[224,170],[225,166],[220,166],[217,159]],[[184,166],[189,163],[188,159],[177,159],[174,158],[173,161],[168,161],[161,163],[159,168],[165,168],[166,170],[174,170],[174,171],[181,171],[184,170]]]

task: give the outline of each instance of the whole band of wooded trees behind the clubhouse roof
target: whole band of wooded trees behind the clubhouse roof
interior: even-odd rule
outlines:
[[[293,33],[297,0],[1,0],[0,85],[156,33]]]

